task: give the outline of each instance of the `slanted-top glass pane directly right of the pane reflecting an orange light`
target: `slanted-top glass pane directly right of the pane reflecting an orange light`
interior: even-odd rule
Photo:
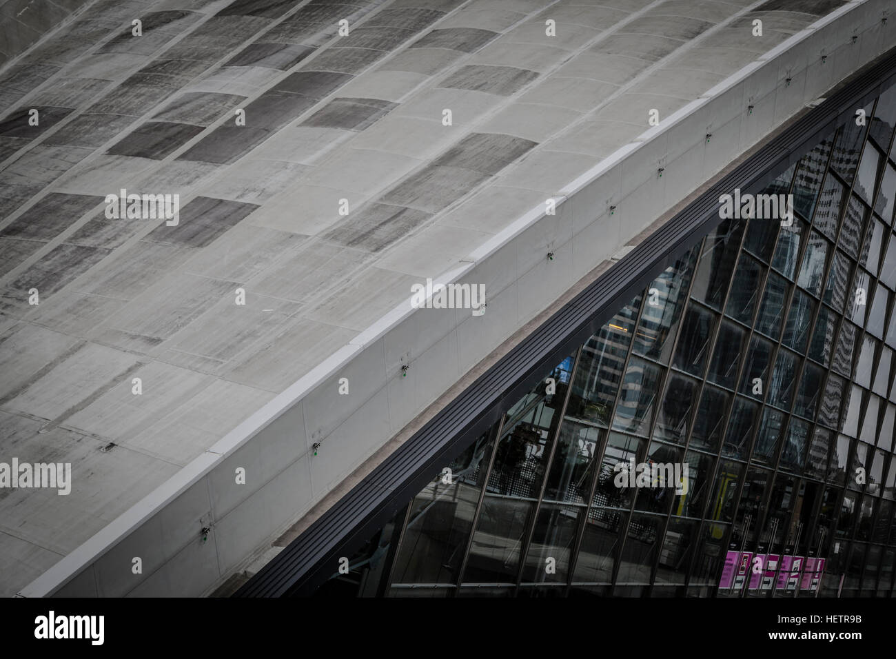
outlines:
[[[666,268],[648,287],[644,311],[634,336],[635,354],[668,364],[672,340],[685,308],[695,257],[696,251],[689,252],[675,265]]]

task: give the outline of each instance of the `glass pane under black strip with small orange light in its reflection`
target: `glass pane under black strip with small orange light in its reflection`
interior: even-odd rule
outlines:
[[[622,381],[640,296],[582,346],[566,414],[606,428]]]

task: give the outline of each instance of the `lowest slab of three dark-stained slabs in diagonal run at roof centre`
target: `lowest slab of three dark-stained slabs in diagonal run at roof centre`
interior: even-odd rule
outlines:
[[[429,212],[391,204],[371,204],[350,220],[344,221],[323,234],[344,247],[379,252],[432,217]]]

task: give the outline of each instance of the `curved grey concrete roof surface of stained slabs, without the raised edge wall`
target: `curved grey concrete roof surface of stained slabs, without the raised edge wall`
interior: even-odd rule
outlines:
[[[841,4],[77,13],[0,73],[0,462],[71,462],[74,476],[65,497],[0,491],[0,594],[642,134],[651,108],[668,117]],[[179,194],[179,224],[107,220],[120,188]]]

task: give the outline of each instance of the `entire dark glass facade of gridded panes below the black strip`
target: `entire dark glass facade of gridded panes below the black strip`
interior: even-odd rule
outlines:
[[[892,596],[896,89],[865,109],[763,191],[790,226],[722,221],[318,594]]]

